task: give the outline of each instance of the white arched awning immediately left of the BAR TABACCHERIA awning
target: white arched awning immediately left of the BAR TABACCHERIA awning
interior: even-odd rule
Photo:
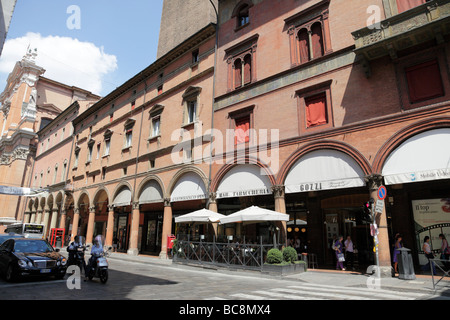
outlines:
[[[179,202],[206,198],[207,193],[202,178],[196,173],[188,172],[175,184],[170,201]]]

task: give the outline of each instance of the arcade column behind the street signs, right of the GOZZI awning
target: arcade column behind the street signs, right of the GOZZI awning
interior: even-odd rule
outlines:
[[[383,183],[383,177],[373,174],[365,178],[369,188],[369,196],[374,199],[374,207],[377,202],[377,190]],[[375,223],[378,226],[378,264],[380,266],[380,276],[392,277],[391,251],[389,247],[389,233],[386,218],[386,205],[383,206],[382,213],[375,213]],[[375,254],[375,253],[374,253]],[[376,258],[376,257],[375,257]]]

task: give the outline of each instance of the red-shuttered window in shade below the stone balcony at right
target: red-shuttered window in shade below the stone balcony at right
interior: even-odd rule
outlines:
[[[444,87],[437,60],[406,68],[405,72],[411,103],[444,95]]]

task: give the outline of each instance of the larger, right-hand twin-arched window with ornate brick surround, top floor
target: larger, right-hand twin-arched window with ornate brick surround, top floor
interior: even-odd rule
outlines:
[[[332,52],[328,6],[329,1],[324,0],[285,20],[293,66]]]

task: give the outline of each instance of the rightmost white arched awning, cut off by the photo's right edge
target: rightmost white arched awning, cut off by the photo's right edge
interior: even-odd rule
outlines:
[[[395,149],[382,174],[386,185],[450,179],[450,128],[420,133]]]

